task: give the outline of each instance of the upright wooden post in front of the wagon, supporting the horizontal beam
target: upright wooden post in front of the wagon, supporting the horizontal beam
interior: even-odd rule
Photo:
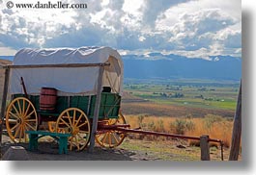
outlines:
[[[90,138],[90,146],[88,150],[90,153],[93,153],[94,147],[95,147],[95,135],[97,132],[98,118],[99,118],[99,112],[100,112],[103,72],[104,72],[104,67],[100,66],[100,71],[98,76],[97,96],[96,96],[96,103],[95,103],[95,112],[94,112],[94,118],[93,118],[93,127],[92,127],[91,138]]]

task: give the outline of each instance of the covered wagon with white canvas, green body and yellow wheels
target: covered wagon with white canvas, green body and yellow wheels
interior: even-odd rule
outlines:
[[[120,132],[97,132],[100,126],[126,123],[120,113],[123,62],[116,50],[22,49],[6,69],[12,99],[5,120],[14,142],[27,141],[27,131],[47,123],[50,132],[71,134],[70,149],[94,146],[95,139],[106,147],[122,143]]]

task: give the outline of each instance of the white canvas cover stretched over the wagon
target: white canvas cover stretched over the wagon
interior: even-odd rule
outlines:
[[[14,65],[110,63],[104,66],[102,87],[122,94],[123,62],[110,47],[22,49],[14,56]],[[11,93],[24,93],[21,77],[28,94],[40,94],[42,87],[57,88],[60,95],[97,94],[100,66],[12,68]]]

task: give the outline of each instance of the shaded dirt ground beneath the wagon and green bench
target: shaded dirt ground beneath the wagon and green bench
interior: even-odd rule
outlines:
[[[1,155],[11,146],[22,146],[27,150],[29,161],[154,161],[154,158],[145,154],[128,151],[123,148],[104,149],[96,146],[94,153],[83,150],[80,152],[69,151],[68,154],[59,155],[58,146],[54,141],[42,141],[39,143],[39,150],[28,151],[28,143],[14,144],[9,137],[3,136]]]

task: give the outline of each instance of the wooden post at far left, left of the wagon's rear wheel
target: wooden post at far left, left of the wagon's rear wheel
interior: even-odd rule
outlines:
[[[6,100],[7,100],[7,93],[9,87],[9,77],[10,77],[10,69],[5,69],[5,82],[4,82],[4,90],[2,96],[2,105],[1,105],[1,113],[0,113],[0,148],[2,148],[2,135],[3,135],[3,122],[5,117],[5,110],[6,110]]]

